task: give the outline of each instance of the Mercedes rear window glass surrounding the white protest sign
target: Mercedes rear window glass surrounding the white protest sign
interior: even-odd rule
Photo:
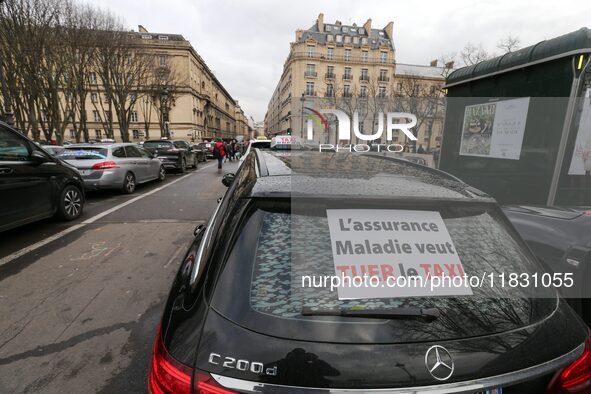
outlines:
[[[327,208],[329,207],[317,206],[306,209],[303,214],[296,214],[293,209],[290,212],[289,208],[283,211],[259,207],[254,211],[233,246],[216,286],[216,308],[240,325],[269,335],[282,336],[289,331],[291,334],[288,337],[293,338],[303,335],[303,332],[308,333],[305,335],[316,333],[321,336],[327,332],[326,329],[315,330],[313,326],[309,326],[327,324],[326,317],[304,316],[302,312],[305,309],[437,308],[444,313],[465,313],[467,318],[459,318],[456,323],[461,321],[466,324],[466,329],[474,326],[470,329],[475,330],[474,333],[482,331],[481,334],[490,333],[487,330],[491,327],[499,331],[513,328],[510,324],[507,325],[504,318],[498,324],[479,326],[482,322],[474,319],[474,315],[490,313],[488,318],[495,320],[492,304],[507,308],[503,314],[512,313],[515,319],[522,319],[523,323],[530,318],[535,319],[535,315],[540,313],[540,310],[531,309],[530,299],[520,289],[500,286],[473,288],[471,295],[408,295],[365,299],[339,299],[338,292],[331,291],[330,285],[305,287],[302,284],[303,275],[316,278],[335,275]],[[423,211],[427,208],[418,209]],[[440,208],[436,212],[445,223],[466,274],[480,276],[491,272],[508,274],[538,270],[537,263],[501,219],[502,214],[498,208],[452,206]],[[330,319],[338,321],[347,318]],[[439,319],[437,324],[444,323],[442,320]],[[364,322],[364,330],[367,323]],[[431,327],[437,324],[431,323]],[[409,330],[416,328],[405,325],[406,322],[401,321],[397,327],[406,327]],[[440,329],[439,334],[445,335],[445,329]],[[392,330],[392,327],[388,330]],[[391,331],[382,334],[391,339]],[[374,340],[380,341],[376,338]]]

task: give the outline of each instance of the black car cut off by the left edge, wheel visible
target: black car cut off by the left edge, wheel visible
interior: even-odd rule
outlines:
[[[78,218],[84,186],[78,171],[0,122],[0,231],[58,216]]]

